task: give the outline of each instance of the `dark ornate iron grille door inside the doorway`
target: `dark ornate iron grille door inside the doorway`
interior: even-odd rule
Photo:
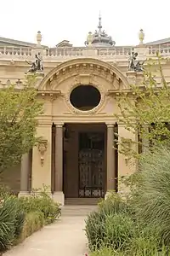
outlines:
[[[79,197],[104,197],[104,133],[79,134]]]

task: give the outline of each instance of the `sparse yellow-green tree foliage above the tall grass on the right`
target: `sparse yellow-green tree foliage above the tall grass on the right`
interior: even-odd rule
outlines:
[[[160,84],[151,69],[157,67],[160,74]],[[127,96],[128,94],[128,96]],[[119,114],[116,119],[125,126],[127,131],[138,133],[139,147],[151,148],[156,144],[167,143],[170,140],[170,87],[166,82],[161,67],[161,57],[157,55],[156,62],[148,63],[144,70],[142,84],[130,84],[129,91],[123,92],[118,98]],[[126,139],[126,138],[124,138]],[[122,154],[139,157],[135,147],[128,148],[126,143],[121,143]]]

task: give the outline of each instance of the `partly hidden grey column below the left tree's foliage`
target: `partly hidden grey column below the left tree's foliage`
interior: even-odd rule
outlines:
[[[24,196],[29,194],[29,173],[30,173],[30,154],[23,154],[20,166],[20,194]]]

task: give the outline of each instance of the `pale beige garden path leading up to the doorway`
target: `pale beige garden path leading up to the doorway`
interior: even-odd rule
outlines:
[[[69,207],[68,207],[69,208]],[[89,208],[93,210],[92,207]],[[88,212],[89,212],[88,209]],[[37,231],[5,256],[82,256],[88,253],[87,238],[83,231],[87,208],[69,208],[56,223]]]

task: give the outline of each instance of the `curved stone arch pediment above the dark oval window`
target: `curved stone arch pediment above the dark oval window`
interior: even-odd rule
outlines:
[[[39,90],[58,90],[57,87],[66,79],[74,78],[74,84],[81,84],[83,78],[88,78],[87,83],[95,84],[97,78],[105,79],[111,84],[110,90],[128,88],[126,77],[114,66],[93,58],[73,59],[65,61],[54,67],[41,81]],[[93,80],[93,82],[91,82]]]

